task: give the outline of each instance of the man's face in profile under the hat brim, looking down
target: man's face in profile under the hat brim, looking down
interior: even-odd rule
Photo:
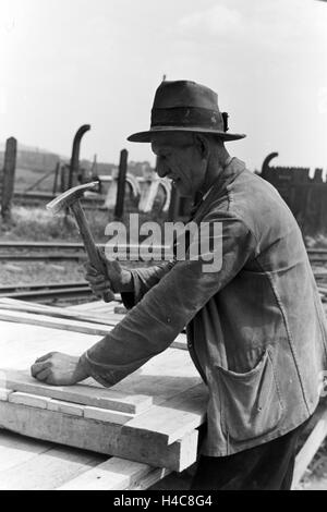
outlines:
[[[152,149],[158,157],[158,175],[170,178],[181,195],[194,197],[206,172],[194,135],[180,132],[154,134]]]

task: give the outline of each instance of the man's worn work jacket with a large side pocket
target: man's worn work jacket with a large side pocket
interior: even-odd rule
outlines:
[[[133,270],[135,291],[124,302],[135,307],[82,361],[110,386],[186,326],[209,391],[203,452],[227,455],[282,436],[314,412],[327,327],[301,231],[269,183],[233,158],[194,220],[220,223],[221,268],[204,271],[202,254]]]

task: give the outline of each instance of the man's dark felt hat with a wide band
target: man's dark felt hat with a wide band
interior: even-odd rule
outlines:
[[[159,132],[210,133],[222,141],[245,137],[228,130],[228,113],[220,112],[214,90],[190,81],[164,81],[156,90],[150,129],[133,133],[128,141],[150,143],[152,135]]]

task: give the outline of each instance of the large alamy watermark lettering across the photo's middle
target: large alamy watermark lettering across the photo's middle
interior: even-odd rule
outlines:
[[[140,223],[138,214],[130,214],[129,224],[109,222],[110,236],[105,253],[108,259],[130,261],[202,261],[203,272],[219,272],[222,266],[221,222]]]

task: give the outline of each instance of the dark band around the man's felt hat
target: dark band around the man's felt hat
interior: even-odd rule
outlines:
[[[203,129],[225,131],[225,123],[219,111],[198,107],[153,109],[152,127],[155,126],[202,126]]]

